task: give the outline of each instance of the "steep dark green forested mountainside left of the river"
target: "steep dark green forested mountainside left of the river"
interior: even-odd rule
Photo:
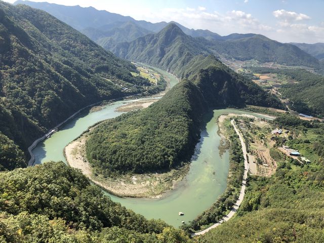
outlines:
[[[0,1],[0,164],[78,109],[146,90],[135,70],[48,13]]]

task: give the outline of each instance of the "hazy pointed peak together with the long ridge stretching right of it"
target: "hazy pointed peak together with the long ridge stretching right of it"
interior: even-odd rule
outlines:
[[[319,61],[291,44],[282,44],[263,35],[252,34],[228,39],[193,38],[186,35],[175,23],[167,25],[155,34],[138,37],[111,47],[119,57],[172,71],[183,77],[179,70],[197,55],[217,55],[238,60],[255,59],[286,65],[320,67]]]

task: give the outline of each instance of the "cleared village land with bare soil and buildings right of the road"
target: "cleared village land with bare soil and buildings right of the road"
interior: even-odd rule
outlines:
[[[236,127],[244,138],[250,174],[270,177],[278,167],[277,160],[291,159],[300,165],[310,163],[310,160],[301,152],[286,145],[289,136],[293,135],[292,131],[274,128],[274,125],[265,118],[250,114],[221,115],[219,122],[229,123],[230,119],[234,119]]]

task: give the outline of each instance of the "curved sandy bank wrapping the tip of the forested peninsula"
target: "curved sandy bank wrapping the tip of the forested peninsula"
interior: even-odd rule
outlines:
[[[111,194],[120,197],[160,198],[165,192],[173,189],[189,171],[189,164],[186,164],[181,169],[173,169],[167,173],[123,175],[114,178],[95,176],[85,156],[87,136],[86,133],[65,147],[66,161],[69,166],[81,170],[95,184]]]

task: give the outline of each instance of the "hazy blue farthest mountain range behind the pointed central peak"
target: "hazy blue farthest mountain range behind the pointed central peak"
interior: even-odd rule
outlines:
[[[17,4],[26,4],[33,8],[45,10],[75,29],[83,32],[106,50],[113,51],[120,57],[126,57],[133,60],[145,62],[144,53],[141,53],[141,57],[136,59],[133,58],[132,55],[139,54],[139,50],[144,51],[143,45],[147,44],[146,42],[152,38],[154,33],[161,31],[166,28],[168,24],[173,23],[177,25],[183,33],[198,38],[198,41],[195,43],[200,44],[194,44],[198,49],[192,50],[195,54],[204,54],[208,52],[216,56],[238,60],[255,59],[260,62],[276,62],[279,64],[304,65],[310,67],[317,67],[320,65],[316,58],[296,48],[296,46],[282,44],[259,34],[233,33],[227,36],[221,36],[209,30],[189,29],[173,21],[170,23],[138,21],[129,16],[99,11],[92,7],[69,7],[21,0],[15,2],[15,5]],[[147,34],[150,35],[145,36]],[[141,38],[143,36],[145,37]],[[156,37],[157,36],[153,38],[156,39]],[[133,42],[135,39],[137,39],[136,42]],[[187,40],[189,39],[190,38],[187,38]],[[190,40],[190,45],[192,47],[193,41],[192,39]],[[129,44],[126,44],[126,42],[129,42]],[[136,47],[137,44],[141,44],[142,46]],[[203,47],[203,45],[205,47]],[[203,52],[200,52],[201,49],[203,49]],[[148,51],[148,48],[145,48],[145,50]],[[131,53],[126,55],[125,51],[131,51]],[[150,59],[151,58],[150,56]],[[157,61],[155,60],[155,62]]]

